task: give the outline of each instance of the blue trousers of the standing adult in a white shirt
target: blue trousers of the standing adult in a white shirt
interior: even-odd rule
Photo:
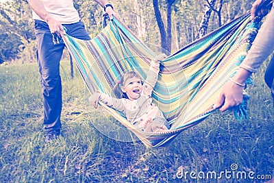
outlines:
[[[84,23],[81,21],[63,25],[66,34],[82,40],[90,40]],[[64,44],[53,44],[52,34],[47,23],[34,21],[34,32],[37,40],[37,61],[42,85],[44,104],[43,125],[47,132],[60,130],[62,111],[62,82],[60,77],[60,60],[64,50]]]

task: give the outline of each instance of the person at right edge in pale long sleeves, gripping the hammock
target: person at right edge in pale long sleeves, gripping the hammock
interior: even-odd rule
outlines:
[[[251,17],[254,18],[260,15],[262,12],[262,3],[264,0],[256,0],[251,8]],[[240,64],[238,72],[227,81],[223,86],[219,100],[214,105],[215,108],[224,111],[233,106],[238,106],[242,102],[242,91],[245,86],[245,82],[249,76],[256,72],[262,62],[273,52],[274,50],[274,8],[266,17],[266,20],[262,24],[256,39],[253,42],[251,49],[249,50],[247,57]],[[271,94],[274,99],[274,59],[269,63],[265,73],[266,84],[271,88]]]

